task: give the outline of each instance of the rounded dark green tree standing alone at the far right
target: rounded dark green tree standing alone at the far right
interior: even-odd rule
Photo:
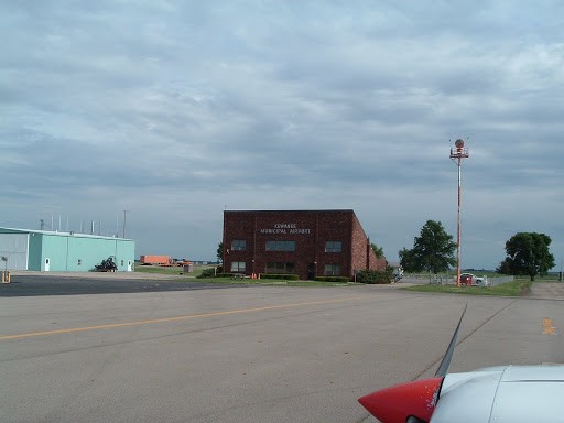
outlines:
[[[554,268],[554,256],[549,246],[552,239],[545,234],[518,232],[506,242],[507,257],[500,269],[520,275],[525,274],[534,281],[534,276],[546,275]]]

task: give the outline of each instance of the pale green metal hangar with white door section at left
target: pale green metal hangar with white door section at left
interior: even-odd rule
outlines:
[[[0,227],[2,269],[88,272],[111,257],[118,271],[131,272],[134,254],[132,239]]]

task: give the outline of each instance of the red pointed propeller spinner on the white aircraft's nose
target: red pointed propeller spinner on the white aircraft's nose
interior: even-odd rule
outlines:
[[[442,384],[443,378],[415,380],[369,393],[358,402],[382,423],[429,422]]]

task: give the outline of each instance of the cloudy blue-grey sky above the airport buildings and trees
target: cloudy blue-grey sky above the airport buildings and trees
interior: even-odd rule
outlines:
[[[215,259],[224,209],[354,209],[389,260],[427,219],[463,267],[564,256],[561,1],[0,6],[0,226]]]

